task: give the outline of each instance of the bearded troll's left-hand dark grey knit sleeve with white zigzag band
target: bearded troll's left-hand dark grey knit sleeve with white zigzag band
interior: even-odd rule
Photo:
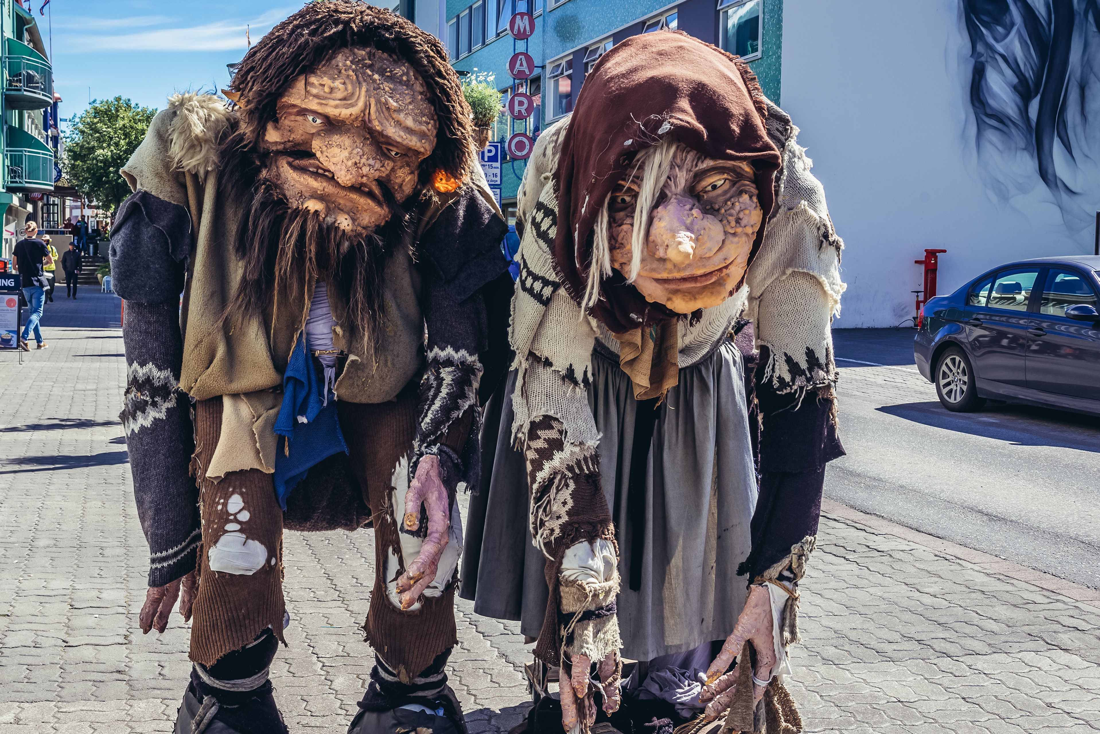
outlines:
[[[179,390],[179,291],[190,242],[187,210],[145,191],[119,208],[111,236],[114,290],[125,301],[122,340],[127,436],[138,516],[150,547],[148,585],[195,568],[201,541],[190,401]]]

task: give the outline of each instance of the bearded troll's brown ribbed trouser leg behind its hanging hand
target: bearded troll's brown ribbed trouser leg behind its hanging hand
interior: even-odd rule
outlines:
[[[393,474],[408,454],[416,433],[416,394],[385,403],[338,402],[340,429],[351,449],[352,468],[365,487],[374,521],[374,590],[363,623],[363,635],[375,652],[408,683],[437,655],[459,642],[454,626],[454,585],[439,597],[421,598],[415,612],[403,612],[386,596],[385,559],[402,557],[398,521],[394,518]],[[411,559],[408,559],[411,560]],[[405,571],[400,564],[398,574]]]

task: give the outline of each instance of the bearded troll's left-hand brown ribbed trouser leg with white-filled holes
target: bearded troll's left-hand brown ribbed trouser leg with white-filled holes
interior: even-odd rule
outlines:
[[[206,477],[221,436],[221,398],[195,403],[195,475],[199,478],[202,549],[191,622],[190,658],[207,667],[255,640],[268,625],[284,644],[283,510],[270,474],[233,471],[217,483]],[[242,507],[238,512],[240,498]],[[241,515],[241,511],[246,515]],[[234,527],[238,525],[239,527]],[[227,529],[228,526],[228,529]],[[251,575],[210,570],[210,548],[229,532],[243,533],[266,549],[267,560]],[[227,541],[240,541],[230,536]]]

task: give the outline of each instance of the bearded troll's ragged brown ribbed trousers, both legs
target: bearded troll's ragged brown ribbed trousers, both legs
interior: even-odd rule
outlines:
[[[394,468],[408,454],[416,433],[416,394],[385,403],[337,403],[340,427],[351,452],[351,465],[372,509],[374,524],[374,589],[363,633],[366,642],[405,682],[427,668],[443,650],[458,644],[454,625],[454,586],[435,599],[424,598],[415,612],[403,612],[386,596],[385,559],[391,550],[402,557],[392,493]],[[218,483],[206,478],[221,434],[221,398],[195,407],[196,474],[200,478],[202,553],[195,599],[190,658],[209,667],[220,657],[252,642],[271,625],[283,638],[283,513],[271,475],[258,469],[234,471]],[[229,500],[239,494],[249,518],[230,516]],[[235,504],[234,504],[235,507]],[[268,550],[268,563],[252,575],[211,571],[208,549],[241,525],[250,541]],[[274,564],[271,563],[274,560]],[[404,572],[400,564],[399,574]]]

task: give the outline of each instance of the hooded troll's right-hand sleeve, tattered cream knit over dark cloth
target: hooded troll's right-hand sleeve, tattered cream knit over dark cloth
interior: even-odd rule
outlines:
[[[844,455],[837,436],[837,379],[831,326],[840,310],[840,251],[825,191],[798,145],[798,127],[773,104],[768,132],[783,151],[776,209],[749,266],[760,364],[760,494],[752,550],[739,571],[794,585],[805,572],[821,515],[825,465]]]

